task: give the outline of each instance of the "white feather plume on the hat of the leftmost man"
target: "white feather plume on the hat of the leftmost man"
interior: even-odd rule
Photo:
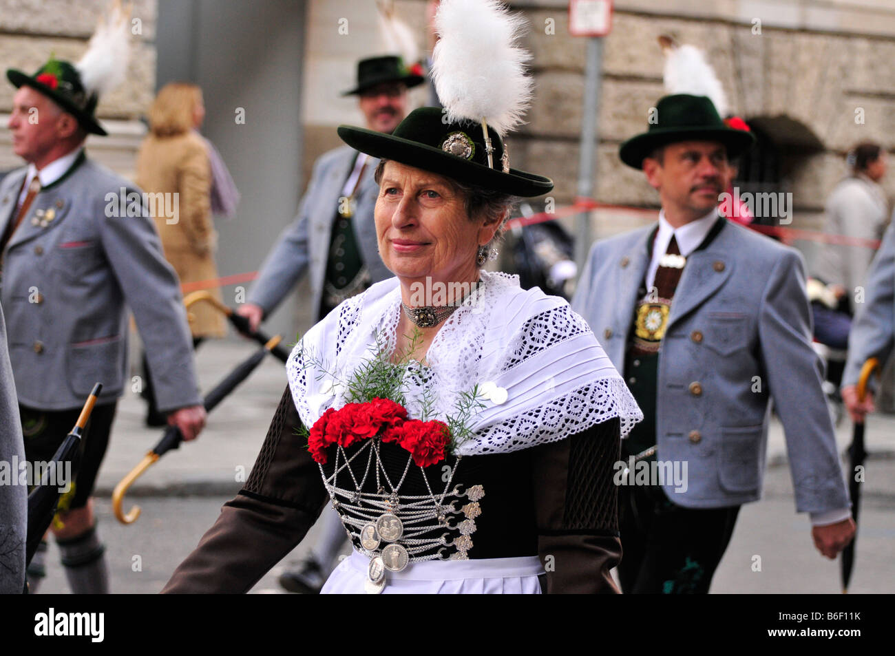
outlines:
[[[102,96],[124,81],[131,59],[130,10],[116,0],[109,15],[100,17],[87,52],[74,64],[89,93]]]

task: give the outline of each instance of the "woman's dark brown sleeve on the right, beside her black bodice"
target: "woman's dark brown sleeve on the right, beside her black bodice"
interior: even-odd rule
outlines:
[[[536,447],[532,473],[544,592],[619,592],[609,570],[621,560],[612,481],[620,447],[618,419]]]

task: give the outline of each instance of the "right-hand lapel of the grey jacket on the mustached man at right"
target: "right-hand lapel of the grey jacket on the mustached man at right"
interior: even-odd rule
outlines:
[[[728,281],[734,269],[734,260],[730,256],[733,234],[730,226],[724,226],[708,247],[687,257],[671,302],[668,329],[708,301]]]

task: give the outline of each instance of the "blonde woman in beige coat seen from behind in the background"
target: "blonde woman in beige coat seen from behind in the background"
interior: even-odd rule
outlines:
[[[164,204],[153,211],[165,257],[181,284],[217,278],[214,252],[217,233],[211,217],[211,168],[205,141],[196,129],[205,117],[201,89],[187,82],[171,82],[159,92],[149,110],[149,135],[137,156],[136,183],[148,194],[164,193]],[[149,197],[153,198],[153,197]],[[220,299],[217,287],[209,291]],[[193,345],[206,337],[224,337],[224,317],[208,303],[190,308]],[[151,389],[150,425],[154,415]]]

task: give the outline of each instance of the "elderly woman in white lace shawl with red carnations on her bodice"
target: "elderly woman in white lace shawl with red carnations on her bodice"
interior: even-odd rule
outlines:
[[[492,34],[504,11],[444,0],[439,47],[469,53],[482,39],[458,45],[450,24]],[[328,503],[354,550],[322,592],[618,592],[613,474],[642,414],[567,302],[482,270],[513,201],[553,183],[509,167],[495,126],[513,121],[439,96],[447,113],[417,109],[392,134],[338,129],[379,158],[395,277],[295,346],[249,480],[164,592],[248,591]]]

